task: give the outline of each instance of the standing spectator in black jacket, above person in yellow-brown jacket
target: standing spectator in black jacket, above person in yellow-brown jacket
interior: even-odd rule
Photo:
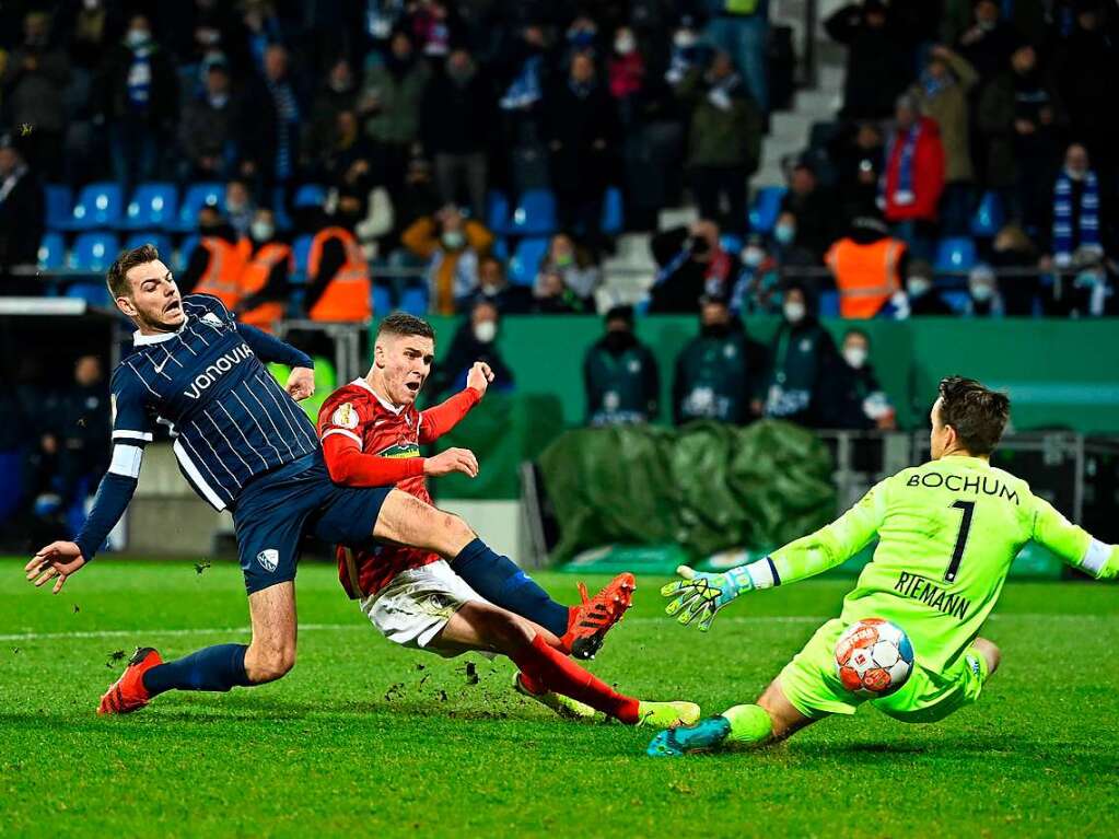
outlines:
[[[488,82],[468,50],[454,49],[424,92],[420,136],[434,160],[441,199],[458,201],[466,195],[474,218],[486,213],[486,150],[492,124]]]

